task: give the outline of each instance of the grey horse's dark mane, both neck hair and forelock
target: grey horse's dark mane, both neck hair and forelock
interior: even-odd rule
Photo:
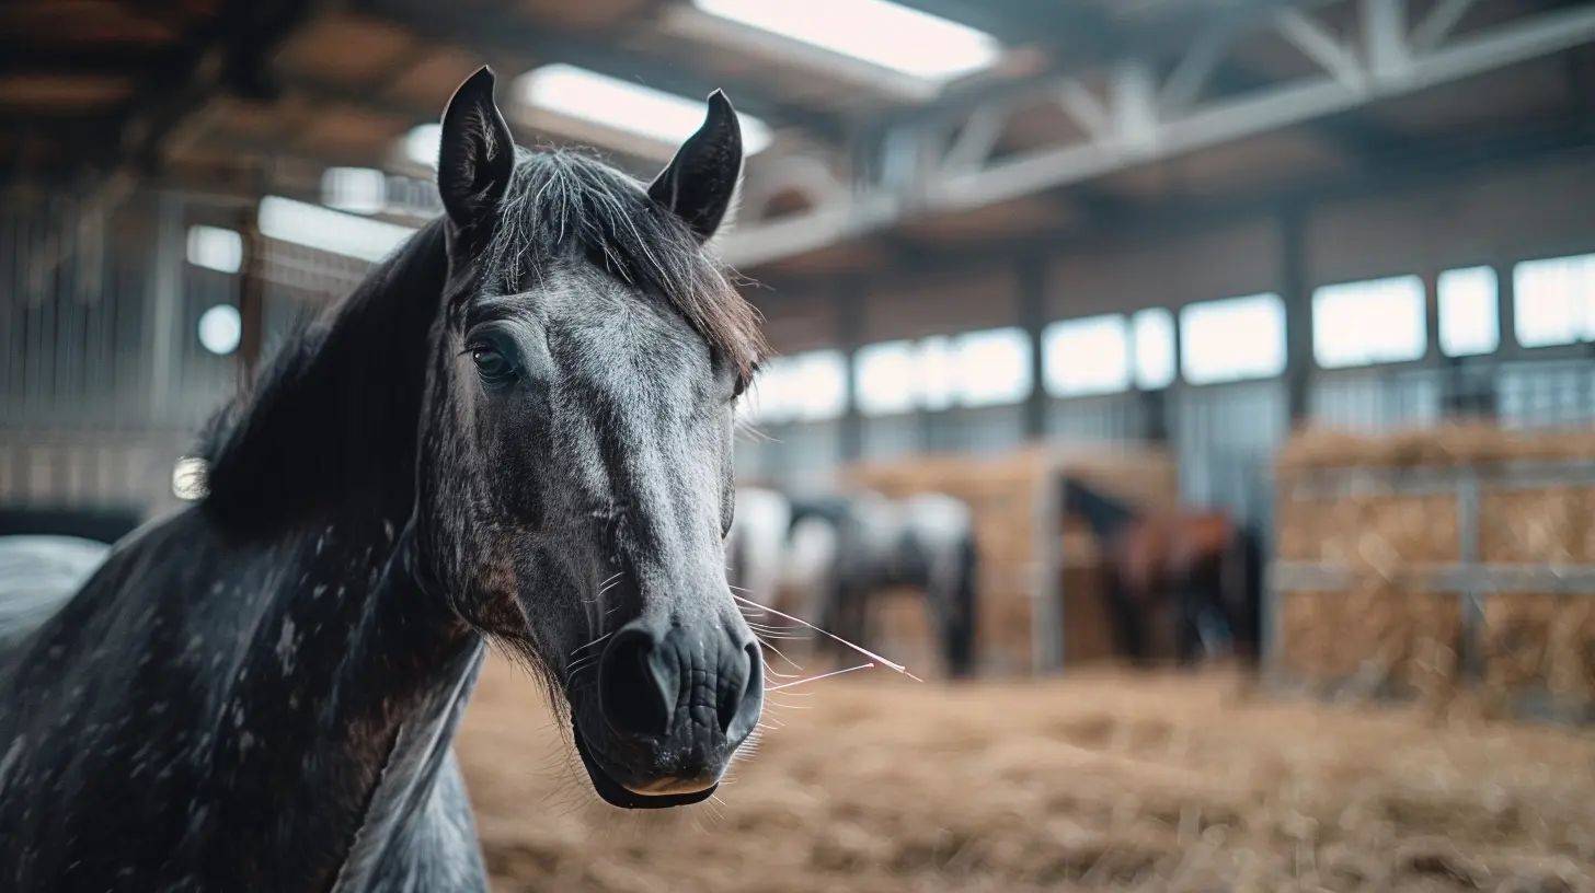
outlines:
[[[431,332],[448,277],[435,218],[345,300],[284,340],[252,392],[206,427],[203,502],[225,531],[265,536],[362,506],[396,525],[415,499]],[[584,257],[667,301],[750,378],[767,351],[759,316],[691,230],[643,185],[569,150],[517,148],[483,282],[530,290],[544,265]]]

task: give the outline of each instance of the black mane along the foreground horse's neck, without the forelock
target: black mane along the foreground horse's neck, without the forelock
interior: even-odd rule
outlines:
[[[352,502],[408,515],[429,335],[448,277],[443,228],[424,225],[300,325],[252,391],[212,418],[198,456],[203,509],[222,529],[268,534]]]

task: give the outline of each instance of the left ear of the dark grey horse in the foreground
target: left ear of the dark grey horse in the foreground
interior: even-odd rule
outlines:
[[[482,65],[459,85],[443,112],[437,191],[458,226],[493,210],[515,169],[515,140],[493,102],[493,69]]]

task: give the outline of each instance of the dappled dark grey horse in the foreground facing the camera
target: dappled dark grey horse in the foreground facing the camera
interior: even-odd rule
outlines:
[[[443,212],[201,432],[199,499],[13,624],[0,888],[483,891],[451,742],[490,646],[612,807],[708,799],[754,730],[735,112],[644,185],[515,147],[493,94],[443,112]]]

